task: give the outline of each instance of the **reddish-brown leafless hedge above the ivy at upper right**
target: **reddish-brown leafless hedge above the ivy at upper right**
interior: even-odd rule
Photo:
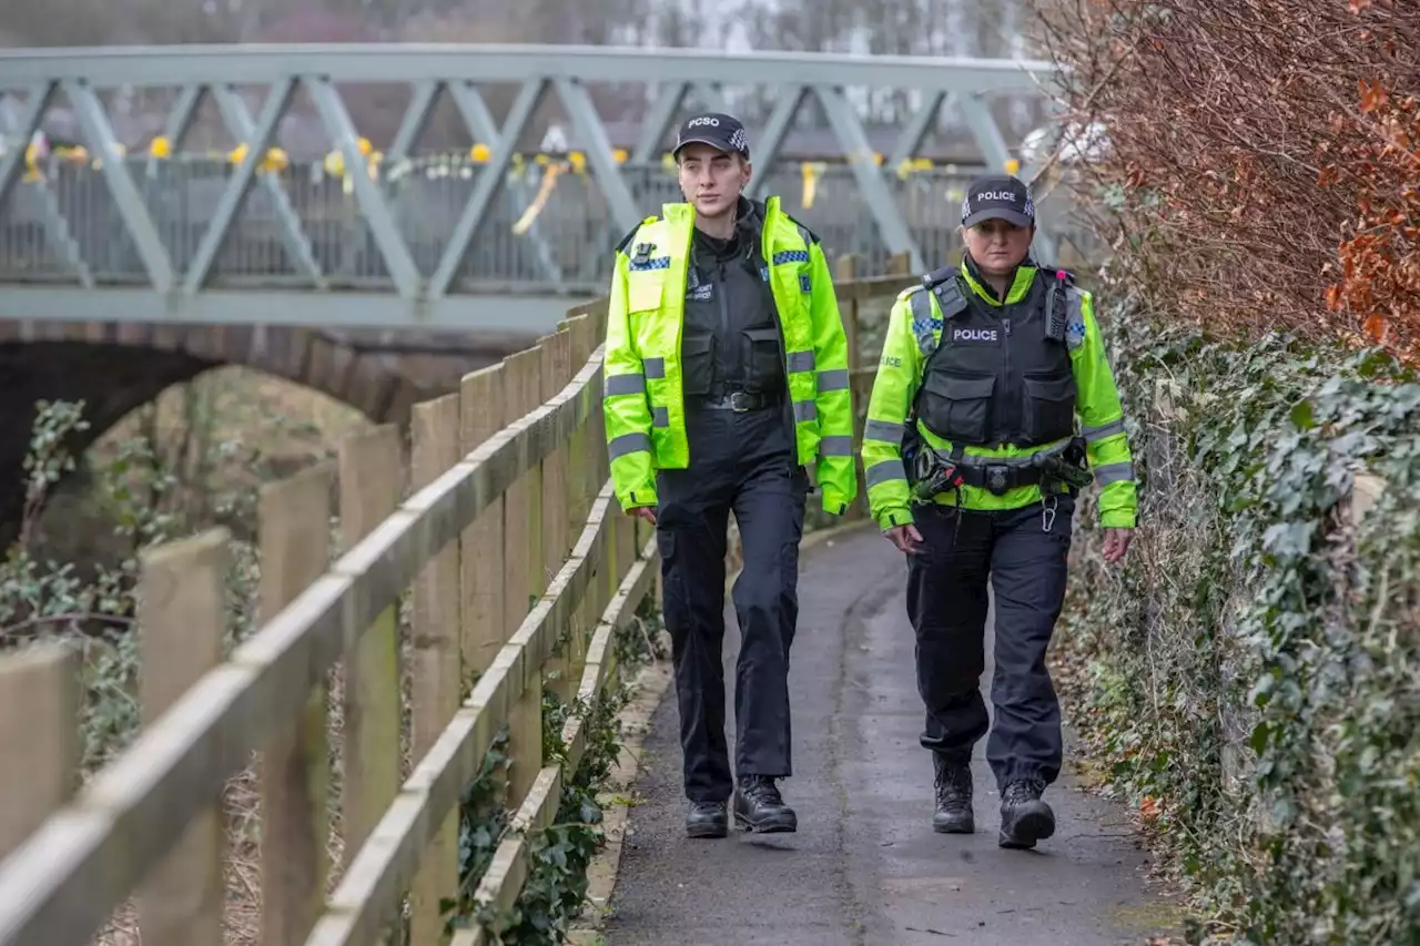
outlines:
[[[1041,4],[1152,303],[1420,361],[1420,0]]]

